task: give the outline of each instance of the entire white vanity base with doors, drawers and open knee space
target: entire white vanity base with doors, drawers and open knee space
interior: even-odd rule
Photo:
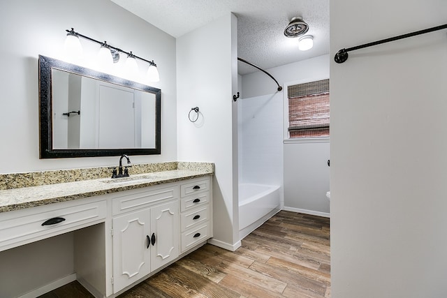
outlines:
[[[73,274],[61,276],[57,283],[47,278],[36,290],[26,288],[26,284],[0,282],[3,292],[13,293],[2,296],[0,287],[0,296],[19,297],[24,290],[31,291],[26,297],[38,296],[78,279],[95,297],[117,297],[212,237],[211,181],[210,176],[180,177],[141,188],[0,212],[0,252],[39,240],[43,241],[36,244],[38,248],[64,239],[73,241],[73,251],[68,249],[64,255],[68,263],[73,256],[73,269],[68,268],[72,265],[64,267]],[[68,232],[73,233],[59,237]],[[45,241],[50,237],[59,238]],[[65,247],[70,248],[69,244]],[[31,248],[27,252],[34,253]],[[51,258],[45,249],[40,251],[43,257]],[[38,274],[41,268],[24,267],[19,251],[15,252],[17,274],[22,267]],[[7,273],[1,270],[0,276]]]

